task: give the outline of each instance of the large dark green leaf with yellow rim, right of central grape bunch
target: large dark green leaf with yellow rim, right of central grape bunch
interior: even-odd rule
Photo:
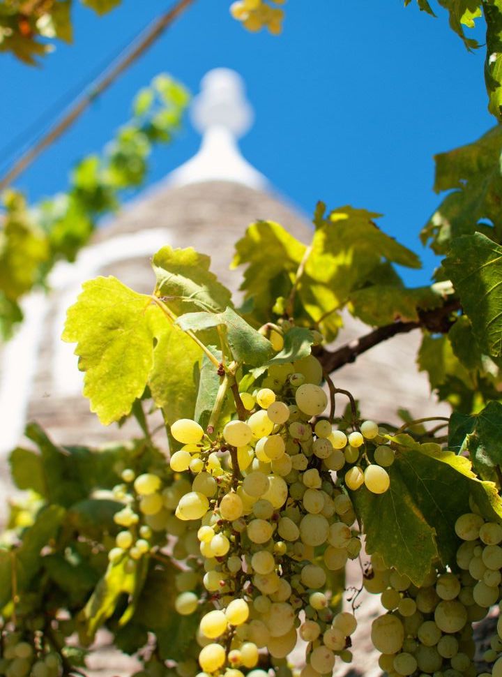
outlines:
[[[420,445],[408,435],[390,438],[398,445],[390,466],[390,489],[376,496],[364,487],[353,492],[367,534],[368,553],[378,552],[388,567],[422,583],[434,558],[455,562],[459,542],[455,521],[472,495],[488,519],[502,517],[501,498],[492,482],[481,482],[469,459]]]

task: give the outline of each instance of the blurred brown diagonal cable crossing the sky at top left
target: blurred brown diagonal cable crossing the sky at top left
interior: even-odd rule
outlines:
[[[119,55],[115,64],[109,66],[109,68],[102,73],[102,76],[96,81],[96,84],[90,88],[90,91],[82,96],[82,98],[77,98],[77,101],[75,101],[73,105],[70,105],[66,114],[64,114],[63,117],[61,117],[61,119],[40,138],[40,140],[38,140],[38,142],[22,153],[20,158],[15,161],[13,166],[0,180],[0,191],[7,188],[7,186],[17,179],[17,177],[20,176],[20,174],[22,174],[22,172],[24,172],[46,148],[59,139],[59,137],[82,115],[89,105],[91,105],[94,99],[108,89],[117,77],[146,52],[146,50],[155,43],[155,40],[160,38],[174,20],[176,20],[176,18],[193,2],[195,2],[195,0],[178,0],[170,10],[158,17],[158,19],[153,20],[149,27],[133,40],[130,47],[126,48],[123,56]]]

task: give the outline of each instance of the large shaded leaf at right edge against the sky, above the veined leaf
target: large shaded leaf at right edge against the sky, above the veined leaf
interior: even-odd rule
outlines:
[[[446,253],[452,239],[476,230],[493,237],[495,228],[500,237],[501,150],[502,127],[496,126],[473,143],[435,156],[434,190],[452,191],[420,235],[436,253]]]

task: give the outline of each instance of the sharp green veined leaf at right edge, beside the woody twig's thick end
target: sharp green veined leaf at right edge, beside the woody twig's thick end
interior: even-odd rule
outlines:
[[[481,233],[452,241],[443,266],[487,355],[502,356],[502,247]]]

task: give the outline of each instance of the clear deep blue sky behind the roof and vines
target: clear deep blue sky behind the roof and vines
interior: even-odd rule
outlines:
[[[424,271],[405,274],[406,281],[426,283],[434,258],[418,230],[439,204],[432,156],[476,139],[494,119],[486,110],[483,50],[466,52],[441,8],[433,19],[402,4],[289,0],[284,33],[275,38],[248,34],[229,16],[229,0],[198,0],[17,186],[31,200],[64,188],[73,164],[102,148],[128,119],[137,89],[160,71],[197,92],[207,70],[227,66],[245,78],[256,113],[241,142],[248,160],[307,214],[318,199],[384,214],[383,230],[423,256]],[[97,17],[77,5],[75,44],[59,45],[40,68],[0,55],[0,147],[167,6],[124,0]],[[155,152],[149,182],[198,144],[187,125],[171,147]]]

